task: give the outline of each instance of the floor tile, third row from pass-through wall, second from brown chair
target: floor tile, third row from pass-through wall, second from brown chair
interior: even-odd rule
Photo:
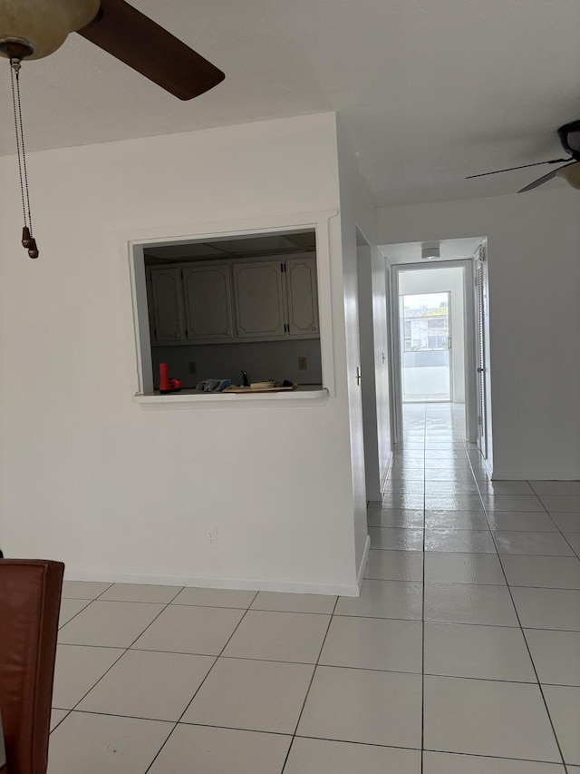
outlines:
[[[179,720],[214,661],[212,656],[127,651],[77,709]]]

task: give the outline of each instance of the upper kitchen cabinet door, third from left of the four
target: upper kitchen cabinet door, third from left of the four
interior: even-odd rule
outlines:
[[[279,261],[234,265],[237,338],[285,338]]]

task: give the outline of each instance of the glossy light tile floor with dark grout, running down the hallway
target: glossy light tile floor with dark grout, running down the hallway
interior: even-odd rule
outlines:
[[[50,774],[580,774],[580,483],[405,407],[360,599],[64,584]]]

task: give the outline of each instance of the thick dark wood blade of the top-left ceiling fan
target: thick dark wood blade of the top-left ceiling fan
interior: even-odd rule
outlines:
[[[124,0],[102,0],[96,19],[77,32],[180,100],[197,97],[226,77]]]

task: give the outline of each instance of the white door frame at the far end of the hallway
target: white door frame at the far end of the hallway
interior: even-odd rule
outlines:
[[[392,377],[394,407],[394,439],[402,441],[402,374],[401,374],[401,325],[399,313],[399,274],[401,271],[424,269],[463,269],[463,326],[464,326],[464,379],[465,379],[465,434],[469,443],[478,437],[478,386],[476,351],[476,309],[473,293],[476,257],[461,260],[438,260],[424,263],[391,264],[391,330],[392,330]]]

